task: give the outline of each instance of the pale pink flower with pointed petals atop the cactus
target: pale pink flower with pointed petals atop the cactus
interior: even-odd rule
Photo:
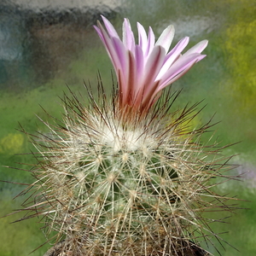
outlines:
[[[189,44],[189,37],[181,39],[169,51],[174,37],[174,27],[167,26],[155,42],[154,32],[149,27],[148,35],[144,27],[137,23],[138,44],[135,42],[129,20],[123,23],[123,40],[119,38],[113,25],[102,16],[106,30],[98,22],[96,32],[102,39],[113,62],[119,82],[119,108],[130,106],[133,110],[148,110],[168,84],[188,72],[201,55],[208,41],[203,40],[183,55],[181,52]]]

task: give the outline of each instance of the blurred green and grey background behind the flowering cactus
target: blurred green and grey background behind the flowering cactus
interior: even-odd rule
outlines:
[[[215,114],[213,122],[221,121],[214,126],[221,145],[241,142],[225,149],[224,154],[236,155],[231,163],[239,167],[231,174],[243,173],[242,181],[224,183],[218,186],[218,192],[236,195],[244,201],[238,203],[241,209],[227,220],[229,224],[212,225],[216,232],[224,232],[221,235],[224,241],[240,252],[225,242],[224,248],[218,243],[216,247],[224,256],[256,255],[256,3],[252,0],[112,2],[114,8],[102,9],[99,5],[89,11],[31,9],[29,4],[22,7],[0,3],[0,179],[32,183],[30,173],[24,170],[29,170],[34,162],[26,154],[34,149],[27,137],[17,131],[19,123],[32,134],[47,131],[36,115],[49,120],[45,109],[61,118],[59,96],[68,94],[66,84],[85,97],[84,81],[90,81],[96,90],[100,72],[105,88],[109,91],[112,88],[113,68],[92,28],[100,13],[107,15],[119,32],[124,17],[130,19],[134,31],[139,21],[146,28],[152,26],[157,36],[173,24],[176,35],[172,45],[184,36],[190,37],[189,47],[202,39],[209,40],[204,51],[207,58],[173,84],[174,89],[183,88],[177,106],[204,100],[201,106],[207,104],[207,107],[198,116],[198,124]],[[25,187],[0,183],[0,216],[20,209],[25,198],[13,198]],[[9,224],[25,213],[0,218],[1,256],[25,256],[44,243],[38,218]],[[212,218],[221,218],[222,214],[212,213]],[[46,244],[31,255],[42,256],[48,247]],[[212,247],[209,250],[218,255]]]

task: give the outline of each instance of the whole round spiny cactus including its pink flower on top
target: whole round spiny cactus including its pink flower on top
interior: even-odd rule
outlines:
[[[113,57],[109,42],[117,36],[103,20],[109,35],[100,25],[96,31],[116,64],[121,61]],[[131,37],[127,20],[125,27]],[[160,42],[171,34],[173,28],[168,27]],[[111,42],[121,51],[125,44],[120,46],[117,39]],[[49,239],[60,242],[56,251],[45,255],[207,255],[200,241],[218,239],[203,212],[229,209],[224,204],[227,198],[213,192],[212,178],[224,177],[230,166],[218,154],[218,144],[201,145],[210,123],[191,128],[198,104],[174,111],[178,93],[167,90],[160,96],[166,84],[205,56],[201,50],[207,41],[178,57],[185,41],[171,51],[177,56],[168,68],[170,55],[164,53],[170,42],[155,44],[152,55],[144,56],[145,63],[162,61],[167,78],[148,73],[145,81],[151,84],[137,87],[138,79],[127,82],[125,69],[116,64],[119,88],[113,100],[108,101],[101,83],[98,99],[87,88],[87,107],[73,93],[65,96],[61,123],[45,123],[49,133],[34,136],[38,164],[32,169],[36,181],[28,188],[35,189],[34,202],[26,209],[32,212],[30,217],[42,216]],[[136,67],[132,47],[124,53],[131,71]],[[134,77],[142,76],[134,70]]]

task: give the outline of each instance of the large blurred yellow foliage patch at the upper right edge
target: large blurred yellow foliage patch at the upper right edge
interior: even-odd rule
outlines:
[[[240,113],[247,111],[254,114],[256,111],[255,31],[256,19],[249,22],[237,20],[237,23],[232,24],[226,31],[224,49],[232,73],[230,88],[226,93],[231,91],[235,96]]]

